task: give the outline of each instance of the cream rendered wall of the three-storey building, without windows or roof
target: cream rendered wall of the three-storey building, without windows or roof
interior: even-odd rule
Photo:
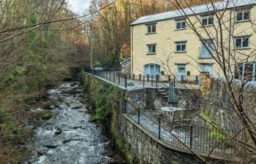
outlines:
[[[230,14],[231,12],[231,14]],[[255,34],[252,28],[252,23],[233,23],[234,11],[227,11],[223,20],[230,20],[232,17],[232,23],[229,21],[225,22],[225,26],[229,29],[231,24],[232,33],[234,36],[244,36]],[[252,21],[255,22],[256,8],[251,9]],[[200,17],[198,15],[198,17]],[[206,31],[211,34],[211,37],[207,36],[204,28],[200,26],[198,20],[195,16],[189,17],[192,23],[196,23],[197,31],[204,36],[205,39],[214,39],[215,42],[219,41],[219,32],[216,33],[214,27],[206,27]],[[187,19],[188,20],[188,19]],[[214,22],[217,29],[217,17],[214,16]],[[198,63],[214,63],[214,75],[223,75],[222,70],[219,69],[219,65],[214,59],[200,59],[200,39],[195,34],[192,29],[187,27],[185,30],[176,31],[176,20],[162,20],[157,22],[157,34],[146,34],[146,25],[136,25],[132,26],[132,73],[133,74],[143,74],[143,66],[148,63],[156,63],[161,66],[161,71],[165,71],[166,74],[175,74],[177,71],[177,63],[187,63],[186,70],[191,72],[192,76],[200,74]],[[223,38],[228,41],[228,30],[222,26],[225,35]],[[187,52],[186,53],[176,53],[175,42],[187,41]],[[228,42],[225,42],[225,47],[228,47]],[[256,36],[251,36],[251,49],[250,50],[233,50],[231,55],[236,60],[230,60],[231,64],[236,62],[245,61],[246,55],[252,53],[255,49]],[[156,55],[146,55],[147,46],[146,44],[157,44],[157,54]],[[215,43],[217,44],[217,43]],[[217,44],[218,45],[218,44]],[[233,49],[233,41],[232,48]],[[220,51],[220,50],[219,50]],[[227,51],[227,50],[226,50]],[[228,54],[227,54],[228,55]],[[250,60],[255,60],[251,58]]]

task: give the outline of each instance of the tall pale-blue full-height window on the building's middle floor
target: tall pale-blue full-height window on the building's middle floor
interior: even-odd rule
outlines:
[[[214,42],[208,40],[201,43],[200,58],[212,58],[214,54]]]

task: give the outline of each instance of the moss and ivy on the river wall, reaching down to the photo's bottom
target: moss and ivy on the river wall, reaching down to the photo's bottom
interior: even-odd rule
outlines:
[[[100,122],[105,131],[110,133],[125,160],[128,163],[134,163],[129,157],[129,145],[126,144],[124,137],[118,131],[124,91],[87,73],[83,73],[83,85],[96,110],[91,120]]]

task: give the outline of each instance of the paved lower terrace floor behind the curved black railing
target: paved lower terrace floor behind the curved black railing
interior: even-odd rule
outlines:
[[[159,120],[152,113],[148,113],[149,115],[144,114],[140,114],[140,122],[138,122],[138,114],[127,115],[143,128],[153,133],[154,136],[171,144],[184,147],[181,144],[182,141],[190,149],[203,154],[208,154],[209,152],[211,152],[211,155],[235,154],[235,149],[225,146],[227,143],[220,144],[221,141],[211,137],[212,132],[216,131],[214,129],[199,125],[167,125],[164,120],[160,120],[159,126]]]

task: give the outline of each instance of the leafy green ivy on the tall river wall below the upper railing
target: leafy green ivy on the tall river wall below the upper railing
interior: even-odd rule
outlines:
[[[92,104],[96,107],[94,117],[108,130],[114,129],[112,127],[117,124],[111,125],[111,122],[118,121],[123,94],[121,90],[114,85],[100,82],[86,73],[83,73],[83,85],[86,92],[90,94]]]

